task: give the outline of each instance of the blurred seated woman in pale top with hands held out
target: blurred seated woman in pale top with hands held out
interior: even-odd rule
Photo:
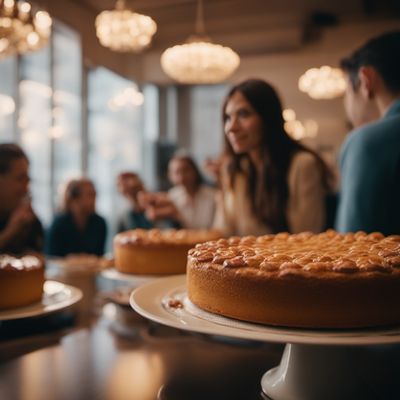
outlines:
[[[153,220],[170,218],[185,229],[211,228],[215,213],[215,189],[204,184],[191,157],[176,153],[168,163],[174,185],[168,193],[146,193],[140,201]]]

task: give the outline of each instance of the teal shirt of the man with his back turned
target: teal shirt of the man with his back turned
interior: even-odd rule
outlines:
[[[339,232],[400,234],[400,100],[353,131],[340,155]]]

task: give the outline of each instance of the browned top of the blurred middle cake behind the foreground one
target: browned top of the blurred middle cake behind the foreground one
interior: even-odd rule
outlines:
[[[221,237],[216,230],[207,229],[134,229],[119,233],[115,236],[114,243],[117,245],[189,245],[214,240]]]

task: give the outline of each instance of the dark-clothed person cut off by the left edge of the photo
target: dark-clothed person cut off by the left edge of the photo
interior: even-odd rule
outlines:
[[[12,143],[0,144],[0,253],[43,251],[43,228],[29,199],[29,161]]]

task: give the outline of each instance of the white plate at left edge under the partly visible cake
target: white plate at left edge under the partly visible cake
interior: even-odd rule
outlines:
[[[0,321],[45,315],[77,303],[82,298],[78,288],[61,282],[46,281],[41,302],[30,306],[0,311]]]

